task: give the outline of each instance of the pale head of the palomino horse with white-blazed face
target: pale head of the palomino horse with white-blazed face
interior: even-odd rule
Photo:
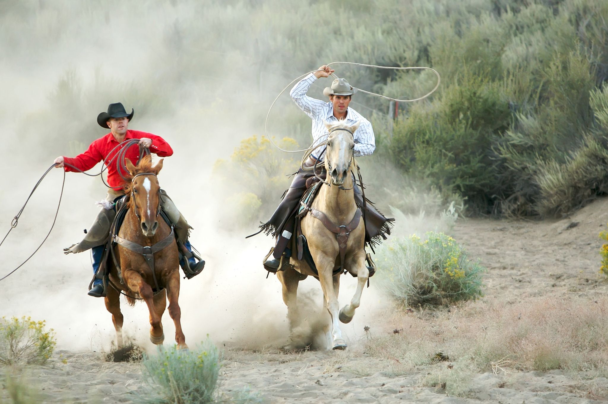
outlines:
[[[330,131],[325,152],[325,169],[333,185],[342,185],[350,171],[354,153],[353,133],[359,128],[359,124],[350,126],[340,122],[337,125],[325,123],[325,126]]]

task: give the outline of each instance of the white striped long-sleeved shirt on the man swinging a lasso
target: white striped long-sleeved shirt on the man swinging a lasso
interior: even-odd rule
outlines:
[[[314,74],[309,74],[302,80],[300,80],[289,92],[291,99],[297,104],[297,106],[306,112],[306,115],[313,118],[313,146],[317,146],[320,143],[326,142],[330,132],[323,125],[323,120],[327,123],[337,123],[338,118],[334,117],[334,106],[331,102],[323,102],[316,98],[308,97],[306,91],[310,86],[317,80]],[[346,122],[350,125],[361,121],[361,125],[354,132],[354,156],[368,156],[376,149],[376,140],[374,137],[374,131],[371,129],[371,123],[354,111],[354,109],[348,107],[345,118]],[[314,158],[316,159],[322,148],[317,149],[313,152]],[[325,152],[323,152],[325,154]],[[319,158],[323,157],[323,154]]]

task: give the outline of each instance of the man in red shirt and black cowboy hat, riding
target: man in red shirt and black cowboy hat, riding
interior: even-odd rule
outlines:
[[[147,132],[127,129],[131,118],[133,118],[133,112],[133,109],[131,109],[131,114],[127,114],[125,107],[121,103],[109,104],[108,112],[102,112],[97,116],[97,123],[103,128],[110,129],[111,132],[91,143],[91,146],[83,154],[78,154],[76,157],[60,156],[55,159],[55,167],[63,167],[65,171],[87,171],[102,160],[108,166],[108,185],[111,188],[108,188],[106,199],[102,201],[102,210],[97,215],[97,219],[93,222],[83,241],[64,250],[67,254],[80,253],[91,248],[94,273],[97,273],[99,269],[105,250],[105,243],[108,240],[110,225],[114,220],[114,216],[116,216],[116,211],[112,208],[114,205],[112,202],[125,194],[123,187],[126,185],[126,182],[119,174],[119,168],[116,163],[117,159],[112,160],[112,157],[116,156],[120,151],[120,148],[117,148],[117,146],[128,139],[140,139],[139,145],[149,148],[150,152],[157,154],[157,156],[168,157],[173,154],[173,149],[162,137]],[[139,161],[139,148],[134,146],[131,146],[126,151],[125,157],[136,164]],[[72,166],[75,168],[72,168]],[[123,176],[130,175],[124,167],[121,167],[121,169]],[[161,190],[161,206],[165,213],[167,213],[170,221],[174,224],[178,244],[185,247],[181,248],[181,253],[190,257],[187,260],[182,257],[179,261],[185,275],[190,279],[198,275],[205,266],[205,261],[201,259],[196,262],[195,257],[192,255],[192,247],[188,241],[188,233],[190,233],[192,227],[188,225],[184,216],[179,213],[173,200],[171,200],[164,190]],[[184,250],[187,250],[188,253]],[[95,279],[93,285],[93,288],[89,290],[89,295],[95,297],[103,296],[102,279]]]

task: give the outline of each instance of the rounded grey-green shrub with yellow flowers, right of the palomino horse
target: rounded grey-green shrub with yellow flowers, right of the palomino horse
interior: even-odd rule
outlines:
[[[467,259],[453,238],[432,231],[426,240],[402,238],[379,251],[379,287],[405,306],[475,300],[485,269]]]

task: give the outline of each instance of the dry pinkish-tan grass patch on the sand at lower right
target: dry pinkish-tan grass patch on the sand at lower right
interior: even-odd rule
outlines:
[[[451,312],[393,316],[390,329],[368,343],[376,357],[403,365],[432,363],[438,352],[477,372],[564,369],[608,371],[608,298],[539,298],[505,306],[478,302]]]

